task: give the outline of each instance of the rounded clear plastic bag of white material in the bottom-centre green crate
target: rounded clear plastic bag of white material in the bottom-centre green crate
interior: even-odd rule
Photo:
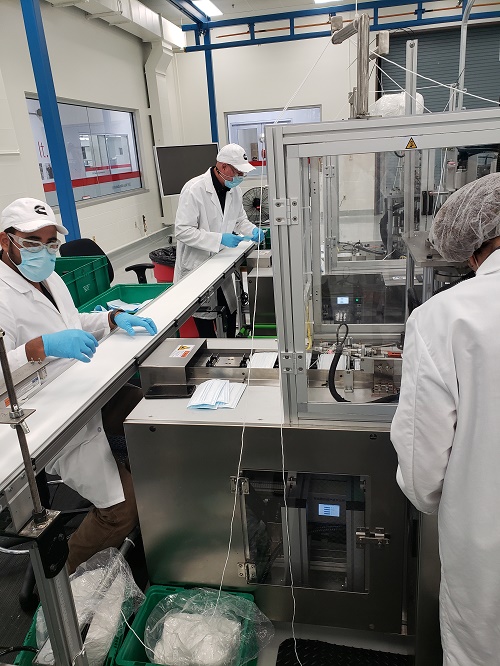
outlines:
[[[240,666],[274,636],[257,606],[241,596],[195,588],[170,594],[144,631],[148,659],[165,666]]]

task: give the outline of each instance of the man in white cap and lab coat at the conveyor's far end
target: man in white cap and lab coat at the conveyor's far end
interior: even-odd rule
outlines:
[[[177,255],[174,282],[224,247],[236,247],[242,240],[264,240],[264,232],[248,221],[241,202],[241,188],[238,187],[254,168],[249,164],[244,149],[230,143],[217,154],[215,166],[184,185],[175,217]],[[218,289],[217,305],[227,307],[227,337],[234,338],[237,301],[232,276]],[[215,317],[213,312],[195,314],[200,337],[215,337]]]

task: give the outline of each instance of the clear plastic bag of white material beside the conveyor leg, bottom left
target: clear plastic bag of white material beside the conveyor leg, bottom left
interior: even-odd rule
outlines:
[[[128,619],[139,608],[144,594],[135,584],[130,567],[116,548],[96,553],[70,576],[80,630],[86,631],[85,651],[89,666],[101,666],[115,636],[124,629],[123,615]],[[123,613],[123,615],[122,615]],[[43,648],[40,661],[54,663],[47,641],[48,633],[40,609],[36,618],[36,642]]]

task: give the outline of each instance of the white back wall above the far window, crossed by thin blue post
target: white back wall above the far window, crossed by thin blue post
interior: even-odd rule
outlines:
[[[283,108],[323,51],[291,105],[320,105],[322,120],[348,118],[347,94],[356,85],[356,65],[349,65],[356,58],[356,49],[348,41],[339,45],[330,43],[325,50],[327,43],[327,38],[318,38],[214,50],[220,143],[227,142],[224,113]],[[182,140],[210,141],[204,54],[177,53],[175,61]]]

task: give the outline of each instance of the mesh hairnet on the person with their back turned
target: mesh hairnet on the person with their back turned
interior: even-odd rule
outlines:
[[[446,261],[465,261],[496,236],[500,236],[500,173],[483,176],[454,192],[429,231],[430,242]]]

